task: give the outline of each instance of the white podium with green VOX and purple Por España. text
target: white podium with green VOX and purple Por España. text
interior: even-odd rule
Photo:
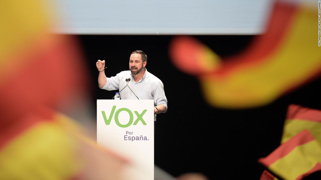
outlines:
[[[154,100],[97,100],[97,144],[154,179]]]

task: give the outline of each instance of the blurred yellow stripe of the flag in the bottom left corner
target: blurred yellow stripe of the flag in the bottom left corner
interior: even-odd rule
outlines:
[[[56,121],[40,123],[0,151],[0,177],[69,179],[82,166],[77,146],[76,140]]]

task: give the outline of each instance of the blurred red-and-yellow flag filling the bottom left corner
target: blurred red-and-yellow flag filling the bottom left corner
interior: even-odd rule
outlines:
[[[0,139],[0,176],[3,179],[70,179],[83,169],[78,140],[49,112],[30,112],[17,126],[4,129]]]

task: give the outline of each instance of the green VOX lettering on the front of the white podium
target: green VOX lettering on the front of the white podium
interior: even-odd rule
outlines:
[[[117,124],[117,126],[121,127],[121,128],[127,128],[129,127],[130,125],[132,125],[133,121],[134,121],[134,114],[132,113],[131,110],[127,109],[127,108],[120,108],[116,111],[115,113],[115,110],[116,110],[116,106],[113,106],[113,108],[111,109],[111,112],[109,114],[109,118],[107,119],[106,117],[106,113],[105,111],[101,111],[102,113],[102,116],[104,118],[104,121],[105,121],[105,124],[106,125],[109,125],[110,124],[110,121],[111,119],[113,118],[113,116],[115,117],[115,123]],[[129,121],[127,124],[121,124],[118,120],[118,115],[120,112],[122,111],[126,111],[128,114],[129,114]],[[137,111],[134,111],[134,113],[136,114],[137,116],[137,119],[136,121],[134,122],[133,125],[136,125],[138,123],[138,121],[142,121],[143,125],[147,125],[146,122],[144,121],[143,119],[143,115],[146,113],[147,109],[144,109],[142,113],[138,113]],[[114,115],[115,113],[115,115]]]

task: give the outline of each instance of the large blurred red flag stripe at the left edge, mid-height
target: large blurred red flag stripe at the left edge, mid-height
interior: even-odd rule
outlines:
[[[85,92],[88,76],[74,46],[70,37],[48,36],[26,47],[29,51],[25,54],[13,57],[13,64],[20,59],[28,63],[2,78],[0,116],[14,121],[35,107],[56,107],[62,100],[71,98],[68,96]],[[0,129],[5,128],[4,124],[0,122]]]

